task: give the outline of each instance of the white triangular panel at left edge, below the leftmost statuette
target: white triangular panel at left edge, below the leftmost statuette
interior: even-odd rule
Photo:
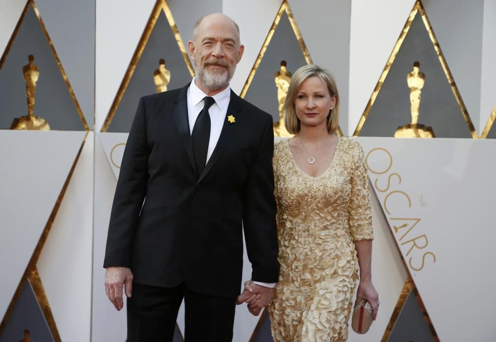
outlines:
[[[0,130],[0,317],[19,285],[85,135]]]

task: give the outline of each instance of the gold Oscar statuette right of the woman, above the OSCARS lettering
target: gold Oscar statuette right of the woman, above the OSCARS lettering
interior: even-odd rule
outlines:
[[[434,138],[432,127],[419,123],[419,107],[422,88],[426,82],[426,75],[420,72],[420,63],[413,63],[413,71],[406,76],[408,88],[410,88],[410,112],[412,122],[410,124],[398,127],[394,133],[395,138]]]

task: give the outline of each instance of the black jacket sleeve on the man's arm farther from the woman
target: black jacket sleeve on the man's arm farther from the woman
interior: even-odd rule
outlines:
[[[148,155],[145,106],[141,98],[124,150],[110,215],[104,267],[130,267],[135,229],[146,194]]]

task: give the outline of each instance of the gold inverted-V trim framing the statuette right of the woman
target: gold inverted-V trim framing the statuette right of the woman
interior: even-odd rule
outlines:
[[[444,55],[442,54],[441,48],[439,47],[439,43],[437,42],[437,38],[434,34],[434,30],[431,26],[431,22],[429,21],[429,18],[427,17],[426,10],[424,8],[424,5],[422,4],[421,0],[416,0],[415,4],[413,6],[412,11],[410,12],[408,19],[405,23],[405,26],[403,27],[403,30],[401,31],[401,34],[394,45],[393,51],[391,52],[391,55],[389,56],[389,59],[386,62],[386,66],[384,67],[384,70],[382,71],[379,80],[377,81],[377,84],[375,86],[375,89],[372,92],[371,98],[369,100],[369,103],[367,104],[367,107],[365,108],[364,114],[362,114],[362,117],[360,118],[360,121],[358,122],[357,128],[355,129],[355,132],[353,133],[353,136],[359,136],[360,131],[362,130],[362,127],[367,119],[367,116],[370,113],[370,110],[372,108],[373,103],[375,102],[375,99],[377,98],[377,95],[382,87],[382,84],[384,83],[384,80],[386,79],[387,73],[389,72],[389,69],[391,68],[391,65],[394,62],[394,59],[396,58],[396,55],[398,54],[398,51],[400,50],[401,45],[403,44],[403,41],[405,40],[405,37],[410,30],[410,26],[412,25],[412,21],[417,15],[417,13],[420,12],[420,15],[422,16],[422,20],[424,22],[424,25],[427,29],[427,32],[429,33],[429,38],[431,38],[431,42],[433,43],[434,50],[437,54],[437,57],[439,58],[439,62],[441,63],[441,67],[444,71],[444,74],[446,75],[446,78],[448,80],[449,85],[451,86],[451,90],[455,96],[456,102],[458,103],[458,106],[460,107],[460,111],[462,112],[463,118],[465,122],[467,123],[467,126],[472,134],[472,138],[477,139],[479,138],[479,135],[477,134],[477,131],[474,127],[474,124],[472,123],[472,119],[470,118],[467,108],[465,107],[465,103],[463,102],[460,92],[458,91],[458,87],[456,86],[455,81],[453,80],[453,76],[451,75],[451,71],[449,70],[448,64],[446,63],[446,59],[444,58]]]

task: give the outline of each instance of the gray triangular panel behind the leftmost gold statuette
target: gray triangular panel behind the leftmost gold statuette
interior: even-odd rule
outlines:
[[[34,63],[40,70],[36,82],[34,114],[46,119],[53,130],[84,130],[32,6],[29,6],[0,69],[0,129],[10,129],[14,118],[28,114],[22,67],[28,64],[29,55],[34,56]]]

